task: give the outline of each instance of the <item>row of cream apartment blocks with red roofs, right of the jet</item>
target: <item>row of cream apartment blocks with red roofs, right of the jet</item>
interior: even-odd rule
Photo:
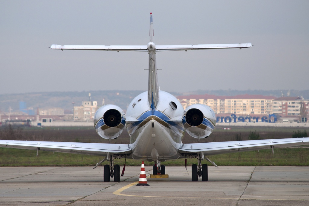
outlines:
[[[184,109],[189,105],[200,103],[212,108],[216,114],[229,113],[238,115],[308,116],[308,100],[299,97],[280,97],[263,95],[189,95],[179,96]],[[307,108],[307,109],[306,109]]]

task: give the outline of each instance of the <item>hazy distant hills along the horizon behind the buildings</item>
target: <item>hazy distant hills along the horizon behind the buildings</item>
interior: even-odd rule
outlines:
[[[72,92],[36,92],[24,94],[4,94],[0,95],[0,109],[2,112],[8,112],[9,107],[12,111],[19,111],[19,102],[26,102],[27,107],[36,108],[52,108],[61,107],[66,113],[73,112],[74,106],[80,106],[82,101],[88,101],[89,93],[91,93],[91,101],[97,101],[98,105],[102,105],[104,99],[105,104],[115,104],[126,110],[132,99],[144,91],[141,90],[106,90],[106,91],[72,91]],[[281,92],[287,96],[288,90],[197,90],[186,93],[170,92],[174,96],[190,95],[190,94],[212,94],[220,96],[234,95],[267,95],[280,97]],[[290,90],[290,96],[302,96],[309,99],[309,90]]]

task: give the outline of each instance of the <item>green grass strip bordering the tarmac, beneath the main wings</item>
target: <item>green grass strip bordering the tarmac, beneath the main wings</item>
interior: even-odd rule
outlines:
[[[95,166],[104,157],[53,153],[36,150],[0,148],[0,166]],[[309,166],[309,148],[277,148],[274,154],[271,149],[228,153],[207,156],[218,166]],[[108,162],[104,162],[108,164]],[[102,164],[102,166],[104,165]],[[123,166],[124,159],[115,159],[115,164]],[[153,162],[145,161],[145,166],[152,166]],[[162,162],[166,166],[184,166],[184,159]],[[197,159],[188,159],[187,165],[197,164]],[[203,161],[203,164],[212,164]],[[127,159],[126,166],[140,166],[140,160]]]

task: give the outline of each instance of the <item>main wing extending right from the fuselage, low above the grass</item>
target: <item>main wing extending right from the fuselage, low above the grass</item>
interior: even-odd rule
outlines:
[[[209,142],[184,144],[180,153],[198,153],[204,155],[233,153],[252,151],[258,149],[271,149],[279,147],[309,145],[309,137],[288,138],[288,139],[269,139],[269,140],[247,140],[247,141],[228,141],[228,142]],[[309,147],[308,147],[309,148]]]

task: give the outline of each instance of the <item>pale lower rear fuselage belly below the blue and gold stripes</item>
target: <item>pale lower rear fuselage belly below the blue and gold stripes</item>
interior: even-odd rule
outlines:
[[[182,135],[176,133],[158,121],[150,120],[131,135],[136,137],[136,141],[130,144],[133,150],[132,158],[153,161],[153,149],[158,152],[160,160],[179,158],[178,148],[181,146]]]

